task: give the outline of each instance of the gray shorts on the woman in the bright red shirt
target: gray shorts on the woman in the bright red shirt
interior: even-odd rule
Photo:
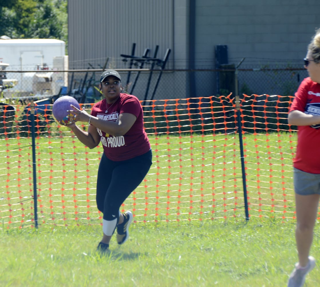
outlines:
[[[293,168],[294,192],[299,195],[320,194],[320,174]]]

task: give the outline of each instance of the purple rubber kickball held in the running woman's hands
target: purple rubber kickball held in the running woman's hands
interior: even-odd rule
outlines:
[[[68,110],[72,109],[70,105],[74,105],[76,108],[80,109],[78,101],[70,96],[62,96],[54,101],[52,105],[52,114],[60,124],[68,125],[72,122],[72,118],[68,118],[74,116],[72,112],[68,112]]]

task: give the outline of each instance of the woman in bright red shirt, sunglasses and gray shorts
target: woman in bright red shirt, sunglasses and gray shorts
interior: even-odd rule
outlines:
[[[320,199],[320,29],[312,38],[304,61],[309,77],[301,82],[288,115],[289,125],[298,126],[293,182],[299,257],[288,287],[303,286],[306,275],[316,265],[309,252]]]

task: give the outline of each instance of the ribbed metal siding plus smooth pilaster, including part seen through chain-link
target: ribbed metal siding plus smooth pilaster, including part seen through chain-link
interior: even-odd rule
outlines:
[[[163,59],[168,49],[170,57],[166,68],[174,68],[174,59],[185,65],[186,50],[186,2],[187,0],[69,0],[68,1],[68,54],[70,69],[90,67],[113,69],[130,68],[130,59],[124,62],[121,54],[141,57],[149,48],[148,57]],[[174,12],[176,15],[174,15]],[[176,20],[177,19],[177,20]],[[175,34],[180,35],[176,40]],[[156,46],[158,51],[156,52]],[[174,48],[177,45],[177,48]],[[177,51],[177,54],[175,53]],[[107,62],[108,60],[108,62]],[[133,68],[138,68],[132,66]],[[151,68],[152,62],[143,68]],[[160,67],[155,66],[159,69]],[[132,85],[136,72],[123,72],[123,85]],[[139,75],[134,94],[140,99],[150,99],[155,90],[159,73],[142,72]],[[161,75],[158,92],[166,78],[174,83],[168,74]],[[168,83],[166,83],[168,85]],[[148,90],[148,92],[147,92]]]

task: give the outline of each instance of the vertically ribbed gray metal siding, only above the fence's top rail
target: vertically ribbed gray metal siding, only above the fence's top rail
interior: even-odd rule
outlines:
[[[103,65],[107,58],[108,66],[126,68],[120,54],[131,55],[133,43],[135,56],[149,48],[153,57],[159,45],[157,57],[164,57],[172,48],[173,1],[69,0],[68,26],[70,68]]]

